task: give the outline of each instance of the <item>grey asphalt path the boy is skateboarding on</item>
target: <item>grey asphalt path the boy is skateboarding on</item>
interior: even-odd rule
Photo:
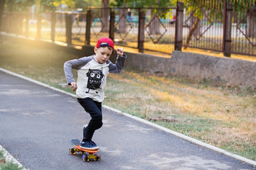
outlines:
[[[103,109],[99,162],[69,155],[88,114],[71,96],[0,71],[0,144],[29,169],[255,169]]]

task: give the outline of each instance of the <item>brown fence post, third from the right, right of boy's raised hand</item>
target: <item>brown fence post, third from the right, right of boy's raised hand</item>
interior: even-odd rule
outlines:
[[[144,41],[145,41],[145,12],[139,10],[139,35],[138,35],[138,48],[139,52],[143,53],[144,50]]]

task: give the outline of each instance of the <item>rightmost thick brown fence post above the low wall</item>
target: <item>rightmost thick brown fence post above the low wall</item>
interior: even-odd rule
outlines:
[[[224,56],[231,55],[231,30],[232,30],[232,11],[231,2],[224,2],[224,34],[223,34],[223,52]]]

